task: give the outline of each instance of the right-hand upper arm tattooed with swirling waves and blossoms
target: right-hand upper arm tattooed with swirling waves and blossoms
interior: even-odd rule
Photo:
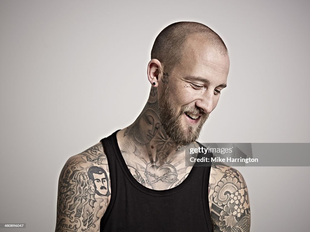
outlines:
[[[212,164],[209,183],[213,231],[249,232],[249,195],[240,172],[223,164]]]

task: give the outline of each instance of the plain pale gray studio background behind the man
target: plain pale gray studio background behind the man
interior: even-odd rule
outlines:
[[[54,230],[65,161],[138,116],[153,41],[175,21],[210,26],[230,54],[199,141],[310,142],[308,12],[308,1],[1,0],[0,222]],[[308,230],[309,167],[238,169],[252,232]]]

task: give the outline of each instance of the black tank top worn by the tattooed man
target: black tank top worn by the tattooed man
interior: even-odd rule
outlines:
[[[174,188],[149,189],[130,173],[116,133],[101,140],[108,159],[111,200],[101,218],[100,232],[211,232],[210,167],[194,166],[187,178]]]

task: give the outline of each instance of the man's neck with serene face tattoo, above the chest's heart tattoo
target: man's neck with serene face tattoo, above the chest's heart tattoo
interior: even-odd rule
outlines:
[[[154,87],[138,118],[119,131],[117,139],[121,149],[126,148],[126,152],[134,153],[146,161],[155,161],[157,165],[171,162],[175,154],[184,151],[164,131],[158,113],[157,88]]]

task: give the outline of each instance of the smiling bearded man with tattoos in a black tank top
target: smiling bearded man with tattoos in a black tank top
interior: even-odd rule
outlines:
[[[141,114],[65,164],[55,231],[249,231],[241,174],[220,163],[185,165],[185,150],[215,109],[228,70],[226,46],[210,28],[166,27],[152,48]],[[109,178],[111,195],[93,187],[101,177],[87,179],[94,167]]]

